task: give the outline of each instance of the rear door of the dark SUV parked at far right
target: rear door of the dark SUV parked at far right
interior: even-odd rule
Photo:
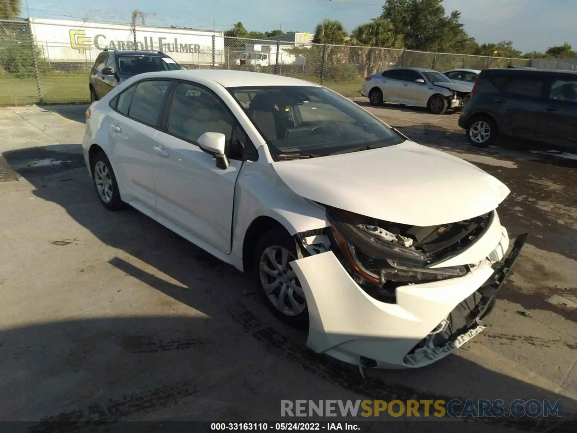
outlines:
[[[541,113],[546,88],[542,74],[496,74],[490,81],[499,91],[490,104],[503,115],[501,131],[522,139],[542,141]]]

